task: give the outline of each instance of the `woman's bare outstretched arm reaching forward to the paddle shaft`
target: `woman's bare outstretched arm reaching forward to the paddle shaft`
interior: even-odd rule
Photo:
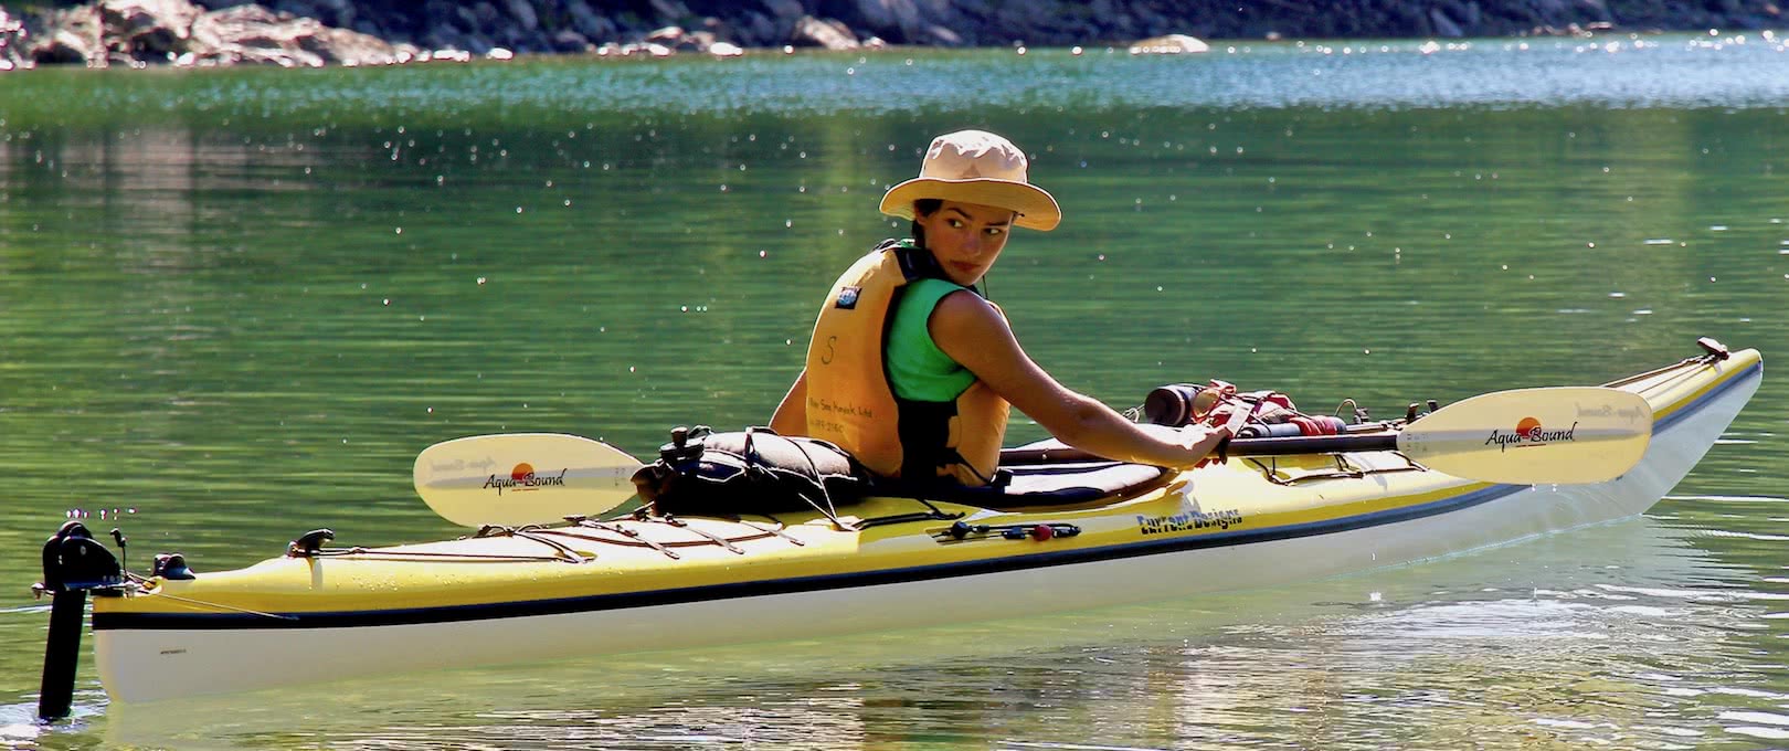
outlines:
[[[1181,440],[1157,438],[1097,399],[1068,390],[1025,354],[1005,316],[973,293],[945,295],[927,329],[950,359],[1075,449],[1120,461],[1191,467],[1231,436],[1225,426],[1186,427]]]

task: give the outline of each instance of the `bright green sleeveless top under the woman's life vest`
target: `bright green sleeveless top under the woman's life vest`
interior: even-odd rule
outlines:
[[[932,342],[927,322],[945,295],[966,290],[945,279],[916,279],[894,302],[887,347],[882,352],[889,388],[896,397],[921,402],[950,402],[975,384],[971,374]]]

